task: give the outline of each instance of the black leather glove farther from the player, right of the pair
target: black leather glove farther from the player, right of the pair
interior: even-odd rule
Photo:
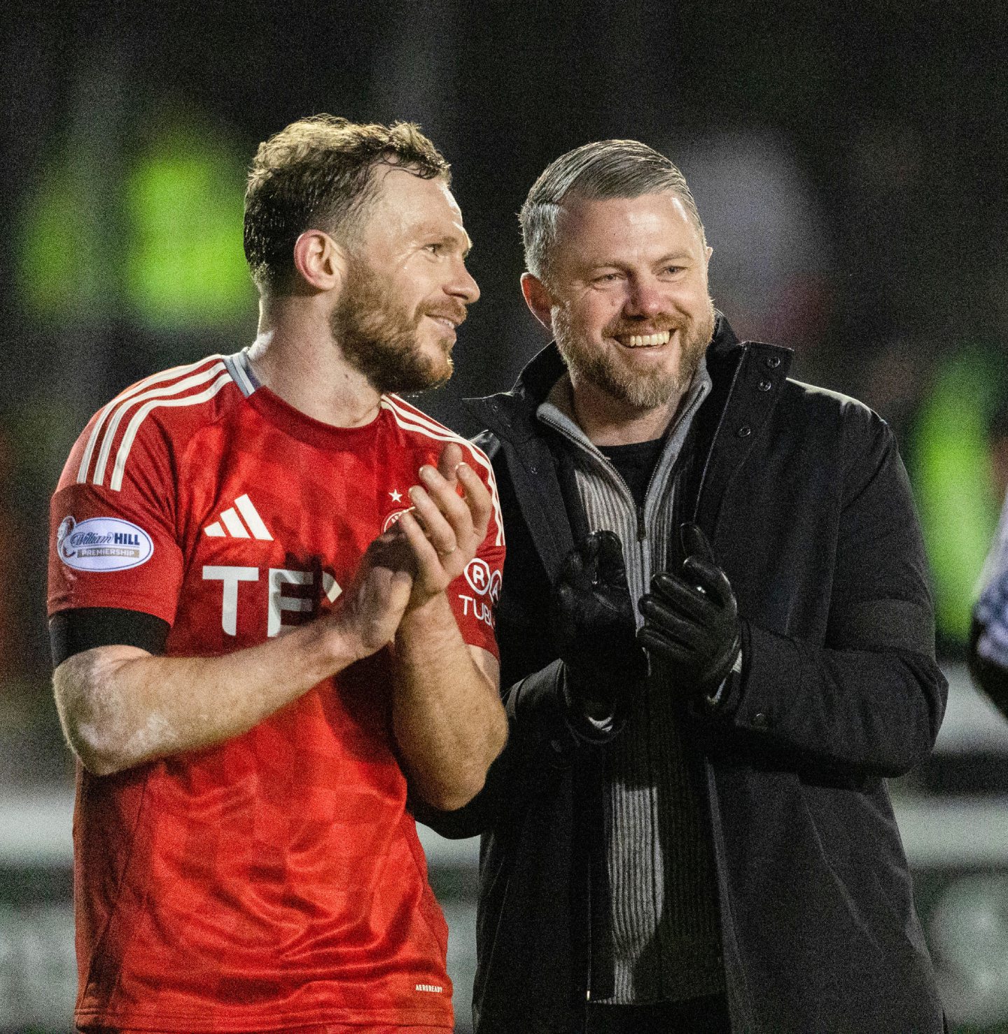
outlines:
[[[665,662],[682,691],[710,696],[741,649],[738,609],[700,527],[682,524],[679,536],[686,558],[679,574],[662,571],[651,579],[651,591],[641,597],[637,641]]]

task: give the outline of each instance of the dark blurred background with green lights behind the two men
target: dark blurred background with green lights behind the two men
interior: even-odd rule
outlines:
[[[413,119],[452,162],[482,301],[421,404],[544,343],[516,212],[554,157],[643,140],[689,179],[714,299],[793,375],[893,426],[952,682],[895,786],[953,1027],[1008,1031],[1008,725],[961,664],[1008,485],[1008,60],[997,3],[8,4],[0,12],[0,1030],[68,1029],[72,764],[51,702],[48,500],[88,417],[254,335],[257,143],[316,112]],[[468,1029],[475,844],[425,842]]]

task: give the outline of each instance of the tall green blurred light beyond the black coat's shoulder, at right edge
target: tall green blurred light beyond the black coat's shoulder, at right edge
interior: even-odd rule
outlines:
[[[918,417],[913,481],[935,581],[939,632],[965,643],[976,583],[998,523],[987,421],[1003,369],[970,352],[940,372]]]

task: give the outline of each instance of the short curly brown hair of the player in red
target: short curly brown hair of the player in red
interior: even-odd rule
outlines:
[[[283,290],[306,230],[353,237],[376,193],[375,165],[402,165],[451,182],[448,162],[414,122],[299,119],[264,141],[245,189],[245,257],[261,292]]]

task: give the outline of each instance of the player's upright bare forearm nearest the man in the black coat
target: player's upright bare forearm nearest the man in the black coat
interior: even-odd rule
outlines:
[[[493,659],[481,670],[448,600],[407,612],[395,640],[393,722],[408,774],[430,804],[461,808],[479,793],[508,723]]]

